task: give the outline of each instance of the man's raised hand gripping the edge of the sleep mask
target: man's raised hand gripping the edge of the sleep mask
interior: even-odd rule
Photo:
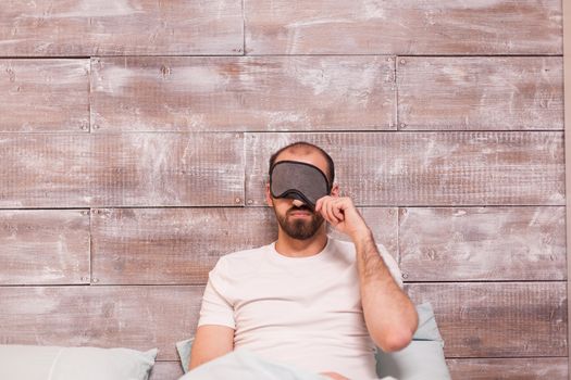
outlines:
[[[339,232],[348,235],[353,242],[371,235],[363,217],[348,197],[320,198],[315,203],[315,212],[320,212],[325,220]]]

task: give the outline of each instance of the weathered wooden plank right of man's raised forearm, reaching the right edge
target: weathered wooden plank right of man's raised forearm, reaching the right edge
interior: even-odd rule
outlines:
[[[401,208],[398,235],[409,281],[567,278],[564,206]]]

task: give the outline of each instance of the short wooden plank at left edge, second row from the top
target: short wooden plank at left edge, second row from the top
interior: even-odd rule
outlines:
[[[89,60],[0,60],[0,131],[89,130]]]

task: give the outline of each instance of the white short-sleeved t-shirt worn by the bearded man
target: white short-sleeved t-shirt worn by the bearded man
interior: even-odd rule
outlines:
[[[397,263],[383,244],[377,248],[402,288]],[[272,362],[376,379],[351,242],[328,237],[325,248],[308,257],[284,256],[275,242],[220,257],[209,273],[201,325],[234,328],[235,350]]]

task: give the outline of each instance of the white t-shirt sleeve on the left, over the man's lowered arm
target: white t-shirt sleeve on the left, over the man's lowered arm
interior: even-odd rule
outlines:
[[[208,274],[208,283],[204,288],[198,326],[222,325],[236,328],[234,307],[227,294],[228,277],[224,257],[219,258],[216,265]]]

